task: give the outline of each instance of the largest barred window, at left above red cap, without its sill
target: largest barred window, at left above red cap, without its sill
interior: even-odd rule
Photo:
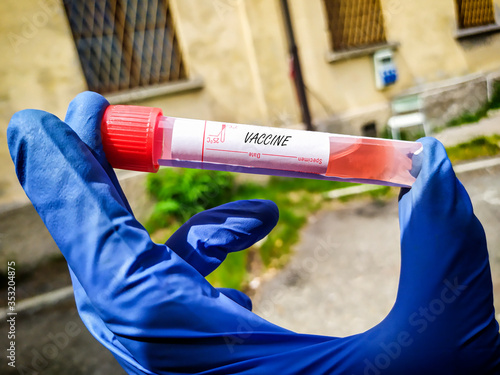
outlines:
[[[90,90],[186,78],[168,0],[63,0]]]

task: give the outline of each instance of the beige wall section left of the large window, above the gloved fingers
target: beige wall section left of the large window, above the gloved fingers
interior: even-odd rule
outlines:
[[[64,116],[71,98],[85,89],[74,44],[59,1],[0,2],[0,204],[25,199],[6,145],[16,111],[37,108]]]

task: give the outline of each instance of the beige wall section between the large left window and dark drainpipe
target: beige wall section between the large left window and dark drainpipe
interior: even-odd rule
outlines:
[[[171,0],[189,74],[201,77],[197,93],[140,102],[178,117],[280,124],[297,120],[287,76],[277,3],[266,0]],[[281,117],[280,117],[281,116]]]

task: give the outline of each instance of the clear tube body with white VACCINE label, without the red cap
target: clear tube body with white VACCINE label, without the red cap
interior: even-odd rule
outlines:
[[[163,166],[409,187],[417,142],[159,116]]]

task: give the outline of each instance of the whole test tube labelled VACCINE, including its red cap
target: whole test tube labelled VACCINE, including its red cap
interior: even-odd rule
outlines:
[[[104,152],[114,168],[160,166],[410,187],[422,144],[163,116],[159,108],[111,105]]]

